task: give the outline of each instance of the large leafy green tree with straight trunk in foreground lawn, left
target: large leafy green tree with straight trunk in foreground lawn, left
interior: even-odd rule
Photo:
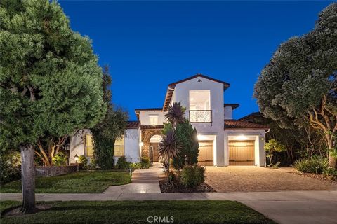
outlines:
[[[0,2],[0,145],[20,148],[22,212],[34,211],[34,145],[103,118],[102,69],[91,41],[55,1]]]

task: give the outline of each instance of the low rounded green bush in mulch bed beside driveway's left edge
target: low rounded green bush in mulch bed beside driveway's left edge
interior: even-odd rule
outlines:
[[[180,181],[185,187],[197,188],[205,181],[205,169],[199,165],[187,165],[180,173]]]

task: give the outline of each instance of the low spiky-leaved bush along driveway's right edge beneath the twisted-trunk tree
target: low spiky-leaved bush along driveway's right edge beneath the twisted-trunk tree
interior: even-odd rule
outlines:
[[[297,160],[295,168],[303,173],[322,174],[328,169],[329,160],[322,156],[312,156],[309,159]]]

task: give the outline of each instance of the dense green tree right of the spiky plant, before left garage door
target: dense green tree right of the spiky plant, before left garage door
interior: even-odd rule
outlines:
[[[182,169],[185,165],[194,165],[198,162],[199,142],[197,130],[185,119],[176,127],[177,141],[180,146],[178,155],[173,158],[173,167]]]

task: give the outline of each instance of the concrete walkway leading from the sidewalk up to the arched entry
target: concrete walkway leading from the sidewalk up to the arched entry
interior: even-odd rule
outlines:
[[[103,194],[111,193],[160,193],[158,175],[162,173],[159,162],[150,169],[136,169],[132,173],[132,182],[121,186],[110,186]]]

